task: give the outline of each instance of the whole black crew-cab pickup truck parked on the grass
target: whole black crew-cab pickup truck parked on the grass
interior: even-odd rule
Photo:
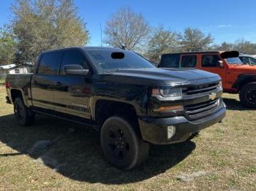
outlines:
[[[18,124],[48,114],[90,125],[100,131],[107,160],[122,169],[146,160],[149,143],[186,141],[226,113],[217,74],[157,69],[118,48],[42,52],[34,74],[7,75],[6,88]]]

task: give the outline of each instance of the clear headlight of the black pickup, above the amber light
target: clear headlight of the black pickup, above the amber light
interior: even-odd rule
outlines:
[[[153,88],[152,97],[156,97],[161,101],[174,101],[182,98],[181,88]]]

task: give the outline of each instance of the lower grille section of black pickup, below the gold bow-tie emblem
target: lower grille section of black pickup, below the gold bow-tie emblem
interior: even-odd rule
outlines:
[[[184,106],[184,109],[191,120],[197,120],[211,114],[211,111],[216,109],[217,106],[219,106],[219,98],[213,101],[201,102],[199,104],[186,105]]]

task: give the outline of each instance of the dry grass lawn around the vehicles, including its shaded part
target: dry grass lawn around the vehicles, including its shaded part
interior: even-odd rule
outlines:
[[[222,123],[181,144],[152,145],[146,163],[132,171],[105,161],[91,128],[42,115],[31,127],[19,127],[5,95],[1,86],[0,190],[256,190],[256,110],[241,106],[238,95],[224,94]],[[48,149],[27,154],[35,141],[58,137]],[[198,171],[207,174],[190,182],[176,178]]]

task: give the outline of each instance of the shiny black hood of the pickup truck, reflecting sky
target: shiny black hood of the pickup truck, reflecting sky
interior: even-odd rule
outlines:
[[[217,74],[197,69],[120,69],[102,75],[107,81],[133,85],[171,85],[196,79],[220,79]]]

